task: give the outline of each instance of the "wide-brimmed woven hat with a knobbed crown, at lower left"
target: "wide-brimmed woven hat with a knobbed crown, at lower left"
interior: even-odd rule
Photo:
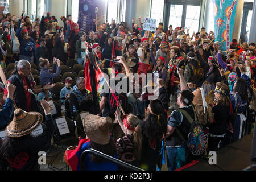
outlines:
[[[8,137],[12,138],[22,137],[34,131],[42,121],[43,116],[40,113],[27,113],[22,109],[16,109],[13,121],[6,127],[5,133]]]

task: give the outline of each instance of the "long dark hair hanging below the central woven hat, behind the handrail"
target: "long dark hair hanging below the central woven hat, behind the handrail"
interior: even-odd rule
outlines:
[[[109,143],[105,144],[105,145],[97,144],[97,143],[90,141],[90,148],[93,148],[94,150],[97,150],[97,151],[102,152],[109,156],[115,156],[115,154],[117,152],[113,138],[110,138]],[[97,162],[97,163],[104,162],[104,159],[98,155],[91,154],[90,159],[93,162]]]

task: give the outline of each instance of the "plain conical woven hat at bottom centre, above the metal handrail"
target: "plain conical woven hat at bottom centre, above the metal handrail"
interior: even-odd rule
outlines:
[[[92,142],[105,145],[109,143],[109,126],[112,120],[110,117],[100,117],[93,114],[88,114],[82,118],[85,134]]]

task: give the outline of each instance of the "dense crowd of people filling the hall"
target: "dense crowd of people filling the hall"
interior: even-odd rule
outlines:
[[[172,171],[194,159],[208,159],[209,151],[252,132],[255,43],[233,39],[230,48],[221,51],[225,40],[214,42],[214,32],[208,34],[205,28],[189,35],[189,29],[170,25],[166,31],[159,23],[151,32],[143,30],[138,18],[137,23],[132,20],[132,29],[126,22],[113,20],[93,24],[86,32],[71,15],[61,16],[64,26],[60,27],[49,12],[35,22],[23,14],[17,18],[8,13],[1,22],[0,61],[7,78],[5,83],[1,76],[0,83],[0,129],[6,134],[0,144],[1,170],[40,170],[38,152],[48,150],[58,130],[53,125],[51,100],[64,106],[65,116],[71,119],[88,112],[82,118],[85,138],[65,152],[72,170],[80,170],[82,151],[93,148],[151,171],[161,169],[166,158]],[[97,100],[87,87],[91,82],[86,75],[88,49],[96,53],[99,70],[109,78],[97,80]],[[70,60],[82,67],[82,76],[64,77],[66,69],[72,72]],[[40,73],[39,80],[32,69]],[[119,73],[125,75],[121,80]],[[131,73],[149,77],[136,79]],[[118,86],[107,87],[112,81],[127,86],[120,93]],[[63,87],[56,98],[52,90],[60,82]],[[150,99],[155,90],[158,97]],[[46,128],[34,137],[32,131],[42,122]],[[195,125],[202,139],[191,143],[188,134]],[[125,169],[93,154],[86,156],[84,168]]]

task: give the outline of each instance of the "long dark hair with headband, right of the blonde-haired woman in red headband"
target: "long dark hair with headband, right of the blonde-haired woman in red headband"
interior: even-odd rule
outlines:
[[[164,112],[164,106],[158,99],[150,102],[150,108],[155,115],[150,112],[146,115],[144,121],[146,122],[144,134],[147,137],[160,140],[163,137],[163,134],[166,134],[167,132],[167,113]],[[160,115],[159,121],[158,116],[156,115]]]

